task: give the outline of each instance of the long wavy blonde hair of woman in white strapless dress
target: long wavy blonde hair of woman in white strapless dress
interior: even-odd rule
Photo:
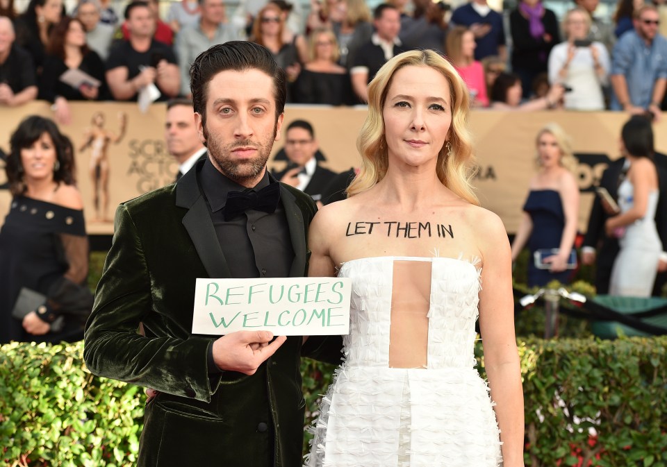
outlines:
[[[414,50],[395,56],[384,64],[368,85],[368,116],[356,139],[356,147],[361,154],[361,170],[347,188],[347,196],[365,192],[387,173],[388,152],[382,109],[394,74],[408,66],[431,67],[445,76],[450,87],[452,105],[452,124],[449,131],[451,149],[449,155],[446,144],[440,149],[436,173],[440,182],[454,194],[469,203],[479,205],[471,184],[475,176],[475,156],[472,155],[468,130],[468,87],[450,62],[432,50]]]

